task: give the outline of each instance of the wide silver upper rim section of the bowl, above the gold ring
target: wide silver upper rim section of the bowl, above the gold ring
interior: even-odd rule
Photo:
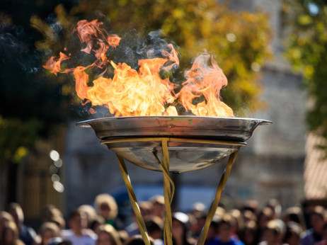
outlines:
[[[139,116],[99,118],[77,123],[92,127],[100,139],[125,137],[183,137],[244,142],[258,125],[270,121],[251,118],[197,116]]]

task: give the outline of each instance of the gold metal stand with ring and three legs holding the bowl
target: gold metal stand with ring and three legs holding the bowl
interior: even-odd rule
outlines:
[[[158,162],[161,170],[164,173],[164,200],[165,200],[165,208],[166,208],[165,223],[164,223],[164,244],[172,245],[173,241],[172,241],[171,230],[172,230],[173,225],[172,225],[172,215],[171,215],[171,202],[173,200],[173,193],[175,191],[175,187],[173,185],[172,179],[169,176],[168,142],[169,141],[202,142],[202,143],[210,143],[210,144],[231,144],[231,145],[239,145],[239,146],[246,146],[246,143],[245,142],[216,141],[216,140],[207,140],[207,139],[183,139],[183,138],[171,138],[171,137],[153,138],[153,137],[151,137],[151,138],[130,138],[130,139],[128,139],[128,138],[105,139],[101,142],[101,144],[108,144],[110,142],[137,142],[137,141],[149,141],[149,140],[161,141],[162,161],[159,160],[158,156],[156,155],[156,152],[153,151],[152,153],[154,154],[156,161]],[[207,214],[207,219],[205,220],[205,226],[202,229],[200,237],[197,241],[197,245],[205,244],[205,239],[207,237],[207,232],[209,230],[210,223],[212,222],[214,214],[217,210],[219,200],[222,195],[222,191],[224,190],[224,187],[226,186],[227,179],[229,178],[229,173],[231,172],[231,166],[233,166],[238,153],[239,153],[239,149],[229,156],[228,163],[226,165],[224,173],[222,174],[222,177],[220,178],[217,192],[214,197],[214,201],[212,202],[212,205],[210,206],[210,210]],[[118,163],[119,163],[119,167],[120,167],[120,172],[122,173],[122,178],[125,182],[125,185],[127,187],[127,192],[130,197],[130,203],[132,204],[132,208],[137,217],[137,223],[139,224],[139,231],[141,232],[144,243],[146,245],[150,245],[149,234],[147,233],[147,227],[145,227],[143,217],[139,210],[139,204],[137,203],[137,197],[132,188],[132,183],[130,182],[130,176],[128,175],[127,168],[125,166],[125,161],[122,158],[122,156],[120,156],[118,154],[116,154],[116,155],[117,155],[117,159],[118,159]]]

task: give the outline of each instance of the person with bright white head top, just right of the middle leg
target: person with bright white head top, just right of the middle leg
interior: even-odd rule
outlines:
[[[188,237],[188,215],[183,212],[173,213],[173,244],[175,245],[190,245],[193,241],[190,241]]]

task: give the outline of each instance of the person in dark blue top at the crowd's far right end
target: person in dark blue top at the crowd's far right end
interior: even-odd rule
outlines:
[[[323,224],[325,223],[325,209],[316,206],[310,212],[311,229],[307,229],[302,234],[301,244],[316,244],[323,239]]]

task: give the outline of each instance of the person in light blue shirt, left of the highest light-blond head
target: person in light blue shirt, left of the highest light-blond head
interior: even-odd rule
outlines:
[[[62,230],[62,238],[72,242],[73,245],[95,245],[98,236],[87,229],[86,213],[76,209],[69,215],[70,229]]]

